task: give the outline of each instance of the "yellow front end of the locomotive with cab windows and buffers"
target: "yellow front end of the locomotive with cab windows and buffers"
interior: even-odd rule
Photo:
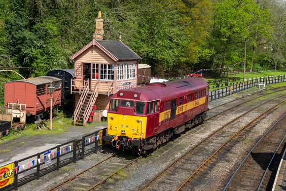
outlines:
[[[118,150],[133,149],[140,152],[146,135],[144,105],[144,102],[135,100],[111,99],[104,141]]]

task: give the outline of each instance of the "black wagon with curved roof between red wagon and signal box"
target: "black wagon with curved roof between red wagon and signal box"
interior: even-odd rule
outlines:
[[[53,76],[62,79],[62,100],[72,99],[71,82],[74,78],[74,68],[63,70],[52,70],[46,76]]]

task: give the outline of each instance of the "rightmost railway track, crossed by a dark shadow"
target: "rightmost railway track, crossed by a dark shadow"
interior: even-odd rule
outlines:
[[[286,115],[275,123],[239,165],[224,188],[228,190],[270,190],[277,173],[285,139]],[[276,156],[276,157],[275,157]],[[275,161],[276,159],[276,161]],[[270,168],[270,169],[269,169]],[[267,175],[266,175],[267,174]],[[267,187],[268,185],[268,187]]]

